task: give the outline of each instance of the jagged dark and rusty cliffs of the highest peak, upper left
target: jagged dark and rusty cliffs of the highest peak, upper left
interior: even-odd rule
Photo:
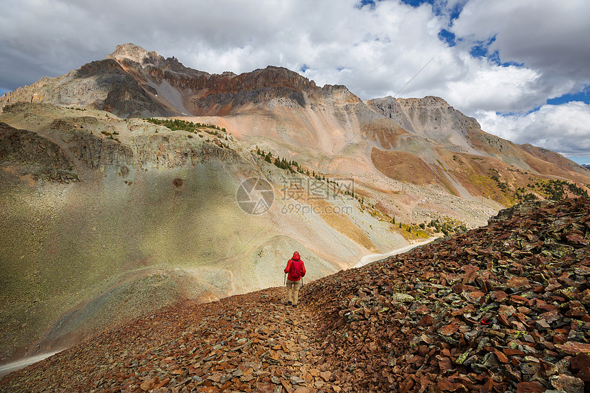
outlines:
[[[282,67],[211,75],[126,44],[117,45],[104,60],[8,93],[0,98],[0,108],[14,102],[48,102],[124,116],[223,115],[247,102],[279,97],[303,106],[302,91],[307,90],[322,91],[314,81]]]

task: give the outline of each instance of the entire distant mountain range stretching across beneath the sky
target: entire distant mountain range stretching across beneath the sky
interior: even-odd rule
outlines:
[[[104,60],[62,77],[43,78],[3,95],[0,108],[23,101],[97,108],[131,117],[224,117],[241,136],[270,137],[272,145],[287,142],[285,153],[295,156],[297,149],[307,147],[334,158],[346,154],[342,147],[353,142],[362,146],[365,160],[394,180],[438,184],[462,198],[484,196],[501,204],[517,202],[514,191],[530,184],[527,176],[515,177],[514,169],[573,180],[580,187],[590,182],[580,165],[538,147],[486,134],[475,119],[440,97],[384,97],[365,104],[345,86],[320,88],[282,67],[213,75],[133,44],[118,45]],[[458,154],[463,159],[458,160]],[[477,156],[485,163],[478,163]],[[410,167],[418,168],[418,173]],[[473,176],[464,176],[465,167]],[[510,193],[494,181],[481,184],[480,177],[492,178],[493,171],[510,184]]]

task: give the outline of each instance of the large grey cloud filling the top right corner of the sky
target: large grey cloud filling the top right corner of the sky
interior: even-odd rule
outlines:
[[[495,36],[489,51],[504,62],[587,80],[589,15],[586,0],[472,0],[452,31],[468,42]]]

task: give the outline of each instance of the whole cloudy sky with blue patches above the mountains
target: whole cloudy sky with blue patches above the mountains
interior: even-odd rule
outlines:
[[[587,0],[3,0],[0,94],[134,43],[362,99],[438,95],[487,132],[590,163],[589,15]]]

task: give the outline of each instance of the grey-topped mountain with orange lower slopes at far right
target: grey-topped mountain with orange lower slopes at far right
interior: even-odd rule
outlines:
[[[370,100],[368,105],[411,133],[397,138],[394,149],[386,149],[395,153],[384,154],[399,156],[399,152],[412,152],[421,160],[421,165],[429,166],[433,172],[430,178],[438,178],[437,182],[446,185],[451,192],[460,193],[460,187],[464,187],[467,195],[488,196],[510,205],[519,200],[522,193],[546,196],[530,187],[532,182],[560,179],[573,181],[585,189],[588,187],[587,171],[580,165],[549,150],[516,145],[488,134],[475,119],[463,115],[439,97],[384,97]],[[414,135],[423,136],[425,141],[418,144]],[[407,157],[403,161],[408,163],[409,160]],[[382,163],[378,168],[384,173],[387,170]],[[393,168],[398,179],[412,178],[407,171],[397,169]],[[418,176],[414,181],[419,179]],[[464,193],[461,195],[467,197]]]

